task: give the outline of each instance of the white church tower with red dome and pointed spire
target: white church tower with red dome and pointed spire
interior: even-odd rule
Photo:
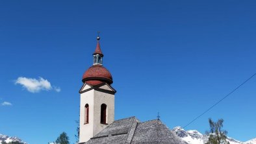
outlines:
[[[84,72],[80,99],[79,143],[84,143],[114,121],[114,93],[112,75],[103,67],[103,53],[97,46],[94,64]]]

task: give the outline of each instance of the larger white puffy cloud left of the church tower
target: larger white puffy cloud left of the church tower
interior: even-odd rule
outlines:
[[[38,93],[42,90],[49,91],[53,90],[53,87],[51,86],[51,83],[42,78],[39,77],[36,78],[26,78],[26,77],[18,77],[15,81],[15,84],[20,84],[23,88],[27,89],[27,91],[31,93]],[[55,91],[59,92],[60,88],[54,88]]]

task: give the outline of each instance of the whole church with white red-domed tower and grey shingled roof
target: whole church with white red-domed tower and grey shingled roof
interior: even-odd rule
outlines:
[[[140,122],[136,117],[114,120],[114,94],[111,73],[103,67],[103,53],[97,37],[94,64],[83,75],[79,93],[79,144],[185,144],[160,119]]]

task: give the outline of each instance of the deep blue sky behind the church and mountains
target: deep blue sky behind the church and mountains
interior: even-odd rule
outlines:
[[[43,144],[64,131],[75,142],[78,91],[97,31],[118,91],[115,119],[160,112],[168,127],[185,126],[256,72],[255,6],[0,1],[0,133]],[[209,117],[222,118],[228,136],[256,138],[255,96],[254,77],[186,130],[204,133]]]

